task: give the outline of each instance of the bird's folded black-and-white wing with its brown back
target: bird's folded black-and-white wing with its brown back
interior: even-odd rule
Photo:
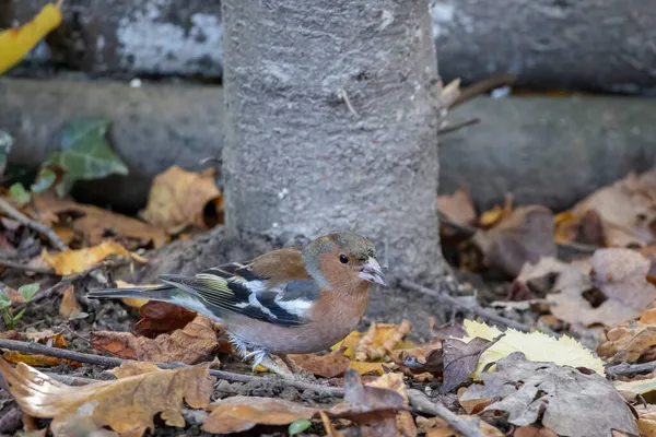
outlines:
[[[305,323],[320,293],[297,249],[269,252],[248,263],[222,264],[195,276],[162,275],[160,280],[198,296],[218,315],[236,312],[281,326]]]

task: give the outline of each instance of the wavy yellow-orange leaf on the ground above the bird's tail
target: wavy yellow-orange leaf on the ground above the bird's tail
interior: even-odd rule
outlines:
[[[46,261],[57,274],[74,274],[97,264],[110,255],[117,255],[133,259],[138,262],[148,262],[148,260],[137,253],[129,252],[125,247],[116,241],[104,241],[98,246],[80,249],[67,250],[56,253],[48,253],[45,249],[42,252],[42,258]]]

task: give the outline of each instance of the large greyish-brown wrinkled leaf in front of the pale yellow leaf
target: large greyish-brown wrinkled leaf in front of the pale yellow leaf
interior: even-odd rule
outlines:
[[[622,397],[595,373],[527,361],[524,354],[514,353],[497,361],[495,371],[483,371],[481,378],[484,386],[469,387],[461,399],[496,398],[499,401],[484,411],[506,412],[514,425],[541,420],[543,426],[564,436],[606,436],[611,429],[639,432]]]

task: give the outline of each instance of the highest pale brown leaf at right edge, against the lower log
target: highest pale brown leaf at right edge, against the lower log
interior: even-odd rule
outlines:
[[[604,187],[572,209],[574,217],[595,211],[609,246],[644,246],[656,243],[656,167],[640,176]]]

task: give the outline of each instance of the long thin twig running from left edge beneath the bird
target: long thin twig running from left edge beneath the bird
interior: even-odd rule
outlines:
[[[23,352],[23,353],[27,353],[27,354],[43,354],[43,355],[48,355],[48,356],[56,356],[58,358],[72,359],[72,361],[80,362],[80,363],[95,364],[95,365],[102,366],[102,367],[118,367],[124,362],[129,361],[129,359],[115,358],[115,357],[109,357],[109,356],[85,354],[82,352],[73,352],[73,351],[69,351],[66,349],[49,347],[49,346],[46,346],[45,344],[28,343],[28,342],[15,341],[15,340],[0,340],[0,349],[8,349],[11,351],[19,351],[19,352]],[[153,363],[153,364],[163,369],[187,367],[187,365],[183,364],[183,363]],[[215,376],[221,379],[225,379],[227,381],[233,381],[233,382],[272,381],[269,378],[262,378],[260,376],[235,374],[233,371],[226,371],[226,370],[210,369],[210,375]],[[326,394],[333,395],[333,397],[342,397],[344,394],[344,390],[341,388],[338,388],[338,387],[326,387],[326,386],[320,386],[318,383],[302,382],[302,381],[286,380],[286,379],[280,379],[278,381],[280,383],[283,383],[286,386],[295,387],[300,390],[314,390],[314,391],[318,391],[320,393],[326,393]]]

